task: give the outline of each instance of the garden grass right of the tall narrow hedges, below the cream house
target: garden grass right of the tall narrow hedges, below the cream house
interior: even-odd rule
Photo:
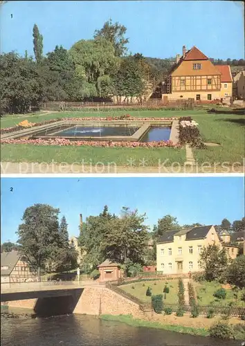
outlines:
[[[237,302],[234,298],[233,291],[231,289],[226,289],[226,299],[217,300],[213,296],[213,293],[217,291],[217,289],[221,288],[221,284],[216,282],[204,282],[199,284],[198,282],[194,282],[194,286],[197,292],[197,302],[199,305],[210,305],[211,303],[214,305],[224,305],[227,306],[230,302],[239,305],[240,307],[244,307],[244,302],[241,300],[242,291],[239,291]],[[204,291],[205,290],[205,291]]]

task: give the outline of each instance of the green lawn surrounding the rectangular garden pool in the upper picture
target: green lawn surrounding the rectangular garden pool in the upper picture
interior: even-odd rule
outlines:
[[[201,165],[207,162],[214,165],[225,163],[231,166],[235,162],[242,164],[244,158],[244,116],[242,114],[228,113],[208,114],[205,109],[194,109],[190,111],[128,111],[135,117],[180,117],[192,116],[199,123],[201,136],[206,142],[219,143],[219,147],[208,147],[208,149],[194,149],[194,158]],[[120,116],[125,111],[100,111],[100,112],[58,112],[46,115],[34,114],[26,117],[7,116],[1,118],[1,127],[12,127],[22,120],[30,122],[42,122],[53,118],[73,118],[73,117],[107,117]],[[158,166],[165,160],[165,167],[176,162],[177,165],[183,165],[185,162],[185,149],[174,148],[101,148],[101,147],[42,147],[35,145],[2,145],[1,161],[11,162],[44,162],[52,163],[82,163],[87,165],[96,165],[102,162],[104,165],[114,162],[116,165],[130,167],[142,166],[145,160],[145,167]],[[176,167],[175,167],[176,170]],[[111,172],[111,171],[110,171]]]

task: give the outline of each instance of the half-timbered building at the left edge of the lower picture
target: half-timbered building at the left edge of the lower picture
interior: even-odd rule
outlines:
[[[37,273],[18,251],[1,253],[1,283],[35,281],[36,278]]]

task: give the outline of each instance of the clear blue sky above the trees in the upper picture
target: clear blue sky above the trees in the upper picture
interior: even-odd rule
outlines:
[[[12,18],[11,18],[12,15]],[[244,5],[235,1],[8,1],[1,13],[1,51],[33,55],[33,25],[44,53],[90,39],[110,17],[127,27],[129,51],[171,57],[183,45],[208,57],[244,57]]]

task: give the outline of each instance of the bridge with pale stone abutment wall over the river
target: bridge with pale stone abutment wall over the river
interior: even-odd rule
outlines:
[[[1,284],[1,304],[31,309],[37,316],[66,313],[131,314],[143,318],[140,304],[98,282],[25,282]]]

